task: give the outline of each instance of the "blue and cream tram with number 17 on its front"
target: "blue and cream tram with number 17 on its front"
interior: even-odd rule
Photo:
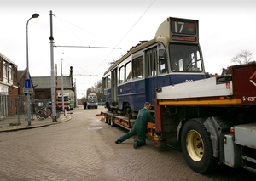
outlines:
[[[198,20],[169,17],[104,72],[105,106],[137,116],[146,101],[154,110],[156,88],[204,78]]]

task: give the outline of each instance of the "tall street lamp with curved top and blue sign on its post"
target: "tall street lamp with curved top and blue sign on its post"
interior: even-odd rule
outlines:
[[[26,78],[27,80],[30,80],[29,78],[29,66],[28,66],[28,33],[27,33],[27,25],[29,20],[31,20],[32,18],[38,18],[39,14],[32,14],[32,17],[30,19],[27,20],[26,22]],[[31,83],[30,85],[31,86]],[[28,126],[31,125],[31,110],[30,110],[30,93],[26,94],[27,96],[27,123]]]

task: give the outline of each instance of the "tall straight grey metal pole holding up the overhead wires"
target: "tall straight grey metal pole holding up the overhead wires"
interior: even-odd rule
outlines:
[[[57,122],[56,116],[56,89],[55,89],[55,62],[54,62],[54,54],[53,54],[53,47],[54,47],[54,37],[52,32],[52,11],[49,11],[49,20],[50,20],[50,36],[49,36],[49,43],[50,43],[50,82],[51,82],[51,109],[52,109],[52,122]]]

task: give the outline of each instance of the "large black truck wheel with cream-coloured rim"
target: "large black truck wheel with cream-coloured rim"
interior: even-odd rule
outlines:
[[[196,173],[209,173],[217,167],[213,157],[210,133],[203,125],[205,119],[190,119],[184,123],[181,133],[183,156],[189,167]]]

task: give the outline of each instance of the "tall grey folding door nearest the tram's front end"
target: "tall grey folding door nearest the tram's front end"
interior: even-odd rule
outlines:
[[[146,99],[153,105],[155,88],[158,87],[157,83],[157,48],[150,48],[146,50]]]

